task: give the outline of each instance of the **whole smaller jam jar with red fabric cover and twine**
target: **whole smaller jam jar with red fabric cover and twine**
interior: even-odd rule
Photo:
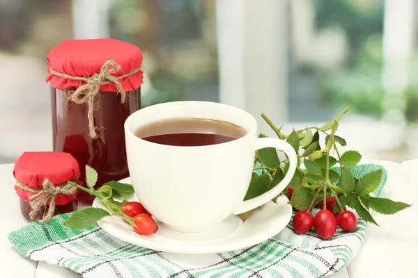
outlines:
[[[52,216],[77,210],[79,165],[63,152],[24,152],[15,163],[15,190],[20,211],[28,220],[49,220]]]

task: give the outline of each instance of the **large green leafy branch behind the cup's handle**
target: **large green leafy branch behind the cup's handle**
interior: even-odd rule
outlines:
[[[355,150],[348,150],[340,154],[338,145],[346,146],[347,142],[341,136],[336,135],[339,121],[349,108],[341,111],[323,126],[293,129],[290,134],[281,133],[281,127],[274,126],[266,115],[262,114],[261,117],[270,125],[277,137],[286,140],[297,153],[298,163],[293,178],[280,195],[284,195],[290,190],[292,192],[290,203],[300,211],[310,211],[321,200],[326,206],[325,199],[334,196],[337,204],[334,206],[335,213],[349,206],[355,209],[359,217],[366,222],[377,225],[376,220],[371,216],[370,209],[387,215],[408,208],[410,204],[394,202],[391,199],[372,195],[382,179],[381,169],[364,174],[359,180],[353,177],[348,168],[357,165],[362,159],[362,155]],[[325,136],[323,147],[320,145],[321,135]],[[267,136],[260,134],[259,137]],[[335,154],[336,157],[331,154]],[[301,168],[302,163],[305,169]],[[339,163],[341,175],[331,169],[336,163]],[[245,199],[257,197],[277,186],[288,172],[288,168],[288,159],[280,161],[276,149],[271,147],[259,149],[256,152],[254,170],[261,170],[261,174],[253,173]],[[274,197],[272,201],[276,202],[277,197]],[[251,212],[247,211],[239,216],[245,221]]]

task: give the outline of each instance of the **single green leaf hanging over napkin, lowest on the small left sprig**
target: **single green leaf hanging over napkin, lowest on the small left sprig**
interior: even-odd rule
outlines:
[[[110,213],[102,208],[84,208],[73,213],[65,220],[64,225],[72,229],[85,229],[109,215]]]

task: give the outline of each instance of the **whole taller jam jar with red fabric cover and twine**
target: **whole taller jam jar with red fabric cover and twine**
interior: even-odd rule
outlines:
[[[67,40],[52,49],[54,151],[74,156],[98,172],[97,186],[129,177],[123,124],[141,108],[141,50],[113,39]],[[91,204],[93,197],[80,193]]]

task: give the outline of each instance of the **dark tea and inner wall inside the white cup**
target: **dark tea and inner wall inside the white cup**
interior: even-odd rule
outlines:
[[[141,126],[135,135],[149,142],[171,146],[207,146],[230,142],[246,131],[230,122],[206,119],[173,119]]]

